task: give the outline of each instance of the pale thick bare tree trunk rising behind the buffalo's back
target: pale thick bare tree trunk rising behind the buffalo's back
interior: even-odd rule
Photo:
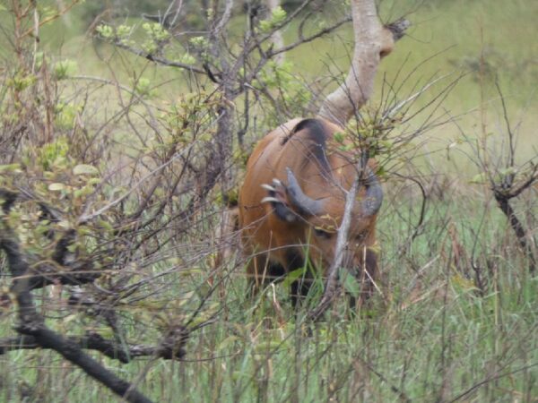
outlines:
[[[340,125],[370,98],[377,65],[394,47],[394,34],[379,21],[375,0],[351,0],[351,18],[355,47],[350,71],[319,110],[319,116]]]

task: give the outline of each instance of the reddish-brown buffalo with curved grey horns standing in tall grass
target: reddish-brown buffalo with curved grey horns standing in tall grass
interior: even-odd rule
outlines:
[[[321,274],[333,262],[345,191],[358,174],[351,154],[334,141],[337,132],[342,128],[323,119],[293,119],[259,141],[248,159],[239,227],[244,252],[252,256],[247,275],[255,292],[305,267],[307,253]],[[372,164],[362,174],[343,261],[369,290],[377,271],[373,246],[383,200]],[[305,277],[291,285],[293,304],[308,293],[312,273]]]

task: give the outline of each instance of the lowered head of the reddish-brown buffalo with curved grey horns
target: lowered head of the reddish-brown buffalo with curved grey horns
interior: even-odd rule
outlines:
[[[352,166],[349,166],[352,167]],[[290,167],[286,167],[286,181],[273,178],[271,184],[262,184],[267,195],[262,203],[270,204],[273,219],[284,224],[288,235],[308,244],[308,254],[313,262],[327,268],[334,260],[337,230],[343,219],[346,189],[338,169],[329,178],[318,176],[319,182],[310,182],[303,190]],[[350,169],[346,169],[350,170]],[[341,169],[340,175],[343,175]],[[359,175],[359,174],[357,174]],[[344,265],[359,267],[364,262],[365,248],[375,243],[374,227],[377,211],[383,201],[381,186],[372,170],[367,167],[362,181],[363,188],[351,210],[351,227]],[[293,242],[292,238],[289,238]]]

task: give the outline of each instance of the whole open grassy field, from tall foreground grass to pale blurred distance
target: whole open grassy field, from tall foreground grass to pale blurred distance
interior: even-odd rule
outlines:
[[[269,287],[253,304],[246,296],[239,253],[218,273],[208,296],[213,256],[204,255],[188,270],[156,279],[164,291],[141,303],[140,315],[132,311],[134,305],[119,307],[127,336],[152,340],[168,318],[187,320],[207,298],[197,321],[210,322],[191,334],[184,360],[140,359],[122,365],[93,356],[156,402],[538,401],[538,278],[529,273],[530,262],[489,188],[470,184],[476,174],[465,156],[470,149],[458,144],[447,151],[462,134],[480,138],[494,133],[494,144],[502,143],[498,78],[508,117],[518,130],[517,158],[525,161],[536,155],[538,3],[455,0],[421,4],[416,10],[415,5],[381,2],[386,21],[409,13],[413,28],[383,61],[377,88],[384,77],[389,83],[402,82],[415,68],[401,96],[435,74],[451,73],[447,80],[452,80],[464,73],[438,112],[459,117],[423,138],[427,158],[402,163],[405,172],[422,169],[422,219],[419,189],[398,177],[387,179],[377,229],[381,279],[369,304],[354,313],[341,296],[316,324],[305,322],[305,310],[291,308],[282,286]],[[52,54],[76,60],[79,75],[114,77],[128,84],[133,71],[145,69],[143,75],[158,87],[158,105],[185,90],[182,76],[172,69],[155,68],[93,42],[80,28],[76,10],[70,21],[58,21],[42,34]],[[292,30],[286,35],[291,40]],[[294,50],[288,56],[294,73],[311,81],[329,75],[329,70],[346,70],[349,38],[346,28]],[[9,54],[2,52],[5,60]],[[114,91],[103,94],[110,104],[117,100]],[[379,101],[378,94],[372,103]],[[101,107],[106,109],[104,103]],[[117,138],[127,142],[128,129],[119,130]],[[247,140],[262,134],[251,131]],[[534,188],[513,201],[534,239],[536,194]],[[204,234],[212,232],[211,224],[204,226],[197,237],[169,244],[151,270],[169,270],[180,258],[188,260],[182,254],[203,250]],[[535,244],[533,251],[537,253]],[[2,281],[0,287],[7,287]],[[47,290],[35,294],[56,330],[88,330],[90,324],[66,313],[65,306],[51,309],[57,300]],[[13,334],[14,316],[13,311],[0,311],[0,337]],[[117,400],[54,352],[13,351],[0,356],[0,368],[0,402]]]

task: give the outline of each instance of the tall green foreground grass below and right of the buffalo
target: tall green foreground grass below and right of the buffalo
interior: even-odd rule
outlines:
[[[238,268],[207,308],[208,315],[221,310],[216,322],[191,336],[185,361],[105,363],[140,379],[141,390],[162,402],[535,401],[538,283],[502,218],[487,200],[437,201],[423,234],[402,252],[406,221],[417,211],[399,210],[398,218],[395,202],[379,228],[383,294],[358,317],[342,300],[330,319],[306,325],[280,287],[281,308],[272,303],[273,289],[253,306]],[[484,216],[469,219],[465,210]],[[452,236],[441,229],[446,223]],[[483,296],[472,281],[474,242],[475,264],[488,281]],[[205,276],[192,270],[167,280],[171,293],[187,296]],[[166,305],[149,323],[176,309],[191,312],[198,298]],[[33,396],[50,402],[114,399],[56,354],[21,351],[2,360],[10,369],[2,375],[2,401],[22,401],[25,385],[34,384]]]

